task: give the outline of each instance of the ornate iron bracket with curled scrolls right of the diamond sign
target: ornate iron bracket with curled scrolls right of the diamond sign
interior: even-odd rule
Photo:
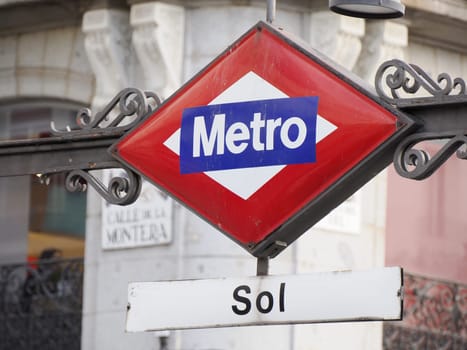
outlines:
[[[425,179],[456,151],[458,158],[467,159],[467,94],[463,79],[441,73],[433,80],[414,64],[391,60],[379,67],[375,86],[384,101],[410,114],[419,125],[394,154],[399,175]],[[441,140],[434,155],[419,148],[431,140]]]

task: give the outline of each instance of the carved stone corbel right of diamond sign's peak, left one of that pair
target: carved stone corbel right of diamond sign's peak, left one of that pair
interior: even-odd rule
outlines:
[[[329,11],[311,14],[310,42],[345,68],[352,70],[360,56],[365,22]]]

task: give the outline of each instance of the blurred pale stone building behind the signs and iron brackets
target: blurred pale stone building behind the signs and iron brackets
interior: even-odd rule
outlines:
[[[372,21],[327,0],[278,0],[275,24],[372,84],[392,58],[467,78],[467,2],[402,2],[401,19]],[[0,138],[47,137],[52,121],[73,126],[79,108],[99,111],[130,86],[167,98],[265,9],[0,0]],[[466,349],[464,175],[457,158],[422,182],[390,167],[271,261],[272,274],[402,266],[402,322],[144,334],[124,332],[129,281],[248,276],[256,260],[151,185],[121,208],[92,189],[68,193],[63,174],[1,178],[0,349]],[[156,233],[143,239],[136,225]]]

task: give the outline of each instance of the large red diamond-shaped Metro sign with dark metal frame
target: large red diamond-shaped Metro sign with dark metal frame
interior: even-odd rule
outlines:
[[[386,167],[413,126],[350,75],[259,22],[111,151],[274,257]]]

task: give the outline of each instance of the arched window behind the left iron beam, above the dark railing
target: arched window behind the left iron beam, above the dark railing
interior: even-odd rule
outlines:
[[[0,140],[49,137],[51,123],[57,129],[74,129],[78,110],[76,105],[56,101],[0,106]],[[51,175],[46,185],[31,176],[29,189],[24,189],[30,198],[27,250],[32,259],[50,248],[65,257],[84,254],[86,193],[68,192],[65,177],[64,173]]]

